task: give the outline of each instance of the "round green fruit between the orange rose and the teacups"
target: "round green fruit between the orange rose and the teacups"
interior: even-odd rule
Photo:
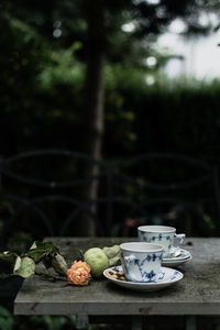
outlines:
[[[90,266],[94,277],[101,277],[103,271],[109,267],[109,260],[99,248],[91,248],[84,254],[84,261]]]

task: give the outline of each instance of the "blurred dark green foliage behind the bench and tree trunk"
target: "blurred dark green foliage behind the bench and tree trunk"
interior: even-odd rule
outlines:
[[[190,41],[200,35],[208,37],[218,31],[219,24],[211,21],[201,24],[200,16],[215,13],[219,19],[219,9],[217,0],[1,0],[1,157],[45,148],[87,152],[86,143],[99,139],[101,161],[127,163],[140,154],[167,152],[205,161],[219,169],[220,80],[218,77],[198,80],[193,76],[170,79],[163,67],[174,54],[156,44],[175,19],[185,23],[182,37]],[[103,29],[97,24],[97,12]],[[151,56],[156,59],[153,66],[146,62]],[[91,70],[88,78],[92,65],[99,68],[99,75]],[[148,77],[153,77],[153,84]],[[94,96],[98,96],[100,86],[105,87],[105,97],[97,98],[89,109],[86,106],[87,96],[92,100],[89,89],[92,87]],[[103,127],[101,134],[90,128],[97,109],[102,111],[97,117]],[[132,178],[158,182],[157,173],[164,172],[166,180],[174,173],[166,174],[164,169],[169,165],[164,166],[163,170],[161,165],[154,167],[152,176],[143,164],[124,173]],[[53,169],[47,163],[46,167]],[[36,172],[36,168],[34,163],[31,169]],[[20,169],[26,170],[22,166]],[[69,173],[75,174],[75,168]],[[10,187],[12,184],[9,191],[14,188]],[[212,194],[205,186],[201,193],[206,189]],[[136,198],[134,187],[129,184],[116,187],[116,191],[131,200]],[[194,191],[190,194],[193,197]],[[141,199],[146,197],[143,190]],[[10,204],[6,207],[9,213],[13,212]],[[194,234],[215,234],[213,209],[201,217],[198,212],[193,216]],[[117,233],[123,231],[118,229]],[[9,238],[9,249],[18,249],[16,239],[19,249],[26,249],[25,242],[29,245],[32,237],[29,232],[15,232]],[[11,304],[11,297],[7,299]],[[33,317],[24,321],[0,309],[0,329],[25,329],[30,324],[36,329],[67,329],[72,322],[63,317]]]

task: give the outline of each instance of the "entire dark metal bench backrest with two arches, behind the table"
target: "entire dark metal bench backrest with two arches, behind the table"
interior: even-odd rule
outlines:
[[[81,175],[84,163],[98,175]],[[34,151],[0,162],[0,242],[79,235],[94,221],[96,235],[136,235],[143,223],[175,226],[187,234],[220,235],[218,170],[174,154],[145,154],[107,163],[85,154]],[[96,198],[81,188],[99,185]]]

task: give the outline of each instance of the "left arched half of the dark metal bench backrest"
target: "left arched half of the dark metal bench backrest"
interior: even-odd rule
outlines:
[[[96,176],[81,176],[84,163],[96,164]],[[99,183],[107,195],[108,166],[103,162],[64,150],[34,151],[1,160],[1,242],[10,232],[45,235],[77,235],[78,223],[88,200],[82,188]],[[105,191],[103,191],[105,190]],[[105,228],[105,223],[101,223]],[[102,227],[98,226],[100,233]]]

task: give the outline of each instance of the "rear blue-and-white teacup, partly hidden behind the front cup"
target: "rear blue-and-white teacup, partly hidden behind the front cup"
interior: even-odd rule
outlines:
[[[177,234],[176,228],[167,226],[140,226],[138,228],[138,234],[141,241],[147,243],[156,243],[164,246],[163,257],[170,257],[172,251],[180,249],[185,234]],[[174,246],[174,238],[179,240],[177,246]]]

